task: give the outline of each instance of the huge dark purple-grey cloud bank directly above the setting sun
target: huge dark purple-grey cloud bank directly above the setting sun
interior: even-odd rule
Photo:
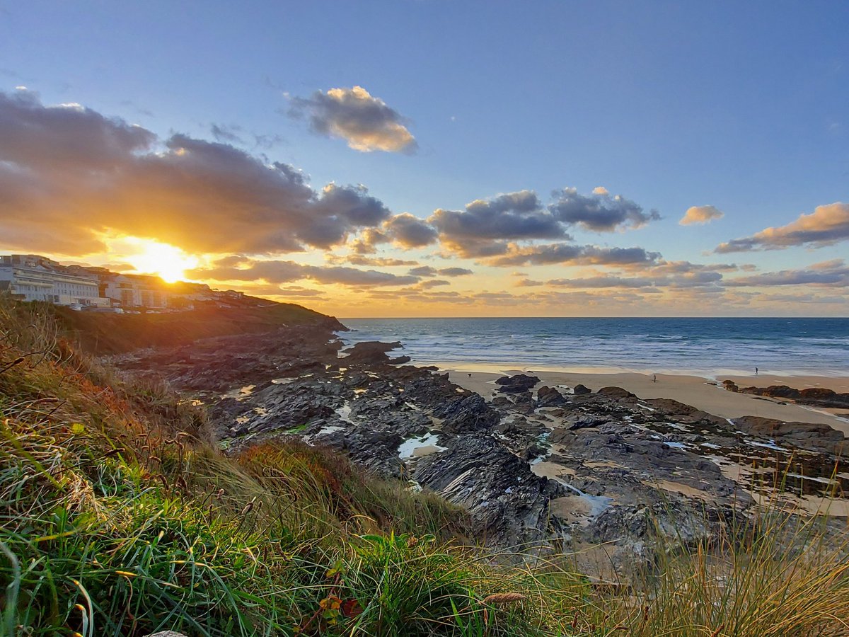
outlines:
[[[10,248],[104,251],[102,233],[192,252],[329,248],[392,217],[363,186],[316,191],[293,166],[82,106],[0,93],[0,234]]]

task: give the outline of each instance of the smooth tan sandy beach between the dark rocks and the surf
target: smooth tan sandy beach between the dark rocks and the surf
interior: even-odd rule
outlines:
[[[788,385],[796,389],[807,387],[825,387],[835,392],[849,392],[849,377],[832,376],[726,376],[706,378],[698,375],[658,374],[657,382],[652,375],[634,372],[604,373],[598,369],[559,370],[540,368],[516,368],[490,364],[436,363],[442,371],[447,371],[453,382],[483,397],[492,397],[498,389],[496,379],[503,375],[531,373],[542,380],[542,385],[574,387],[578,383],[596,391],[601,387],[617,386],[633,392],[641,398],[672,398],[681,403],[692,405],[709,414],[723,418],[737,418],[744,415],[762,416],[788,422],[821,423],[834,427],[849,437],[849,415],[846,409],[813,409],[769,397],[752,396],[728,392],[722,388],[722,381],[730,379],[740,387]],[[841,415],[835,415],[841,414]]]

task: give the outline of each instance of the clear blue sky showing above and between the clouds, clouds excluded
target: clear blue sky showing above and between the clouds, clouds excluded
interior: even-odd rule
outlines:
[[[175,132],[213,140],[211,127],[225,127],[239,141],[219,141],[291,164],[317,190],[362,183],[393,214],[423,219],[503,193],[533,190],[544,205],[555,189],[603,186],[662,218],[612,233],[571,227],[577,243],[638,245],[669,262],[733,259],[770,273],[846,254],[840,232],[778,250],[711,251],[849,201],[847,32],[845,2],[0,2],[0,90],[25,86],[44,105],[82,104],[163,140]],[[355,86],[402,117],[415,152],[360,152],[288,114],[294,99]],[[679,225],[690,206],[715,206],[724,217]],[[4,245],[0,234],[0,247],[30,246]],[[319,266],[345,249],[295,260]],[[434,256],[446,255],[441,244],[389,244],[384,253],[459,260],[476,279],[451,282],[462,294],[516,293],[510,270]],[[294,258],[283,254],[249,256]],[[569,268],[529,274],[543,282],[599,275]],[[830,302],[794,304],[792,313],[846,315],[849,284],[838,279],[818,290]],[[800,303],[811,293],[780,288],[783,296],[803,291]],[[313,305],[332,308],[346,290],[310,292]],[[774,292],[751,292],[762,296],[754,309],[738,295],[733,312],[775,313],[786,302],[769,302]],[[417,307],[411,302],[409,313]]]

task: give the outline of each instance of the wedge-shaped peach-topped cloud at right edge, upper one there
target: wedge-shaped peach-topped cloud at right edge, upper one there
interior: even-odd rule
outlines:
[[[766,228],[749,237],[722,243],[715,252],[780,250],[796,245],[820,247],[847,239],[849,204],[835,201],[826,206],[817,206],[811,214],[801,214],[796,221],[785,226]]]

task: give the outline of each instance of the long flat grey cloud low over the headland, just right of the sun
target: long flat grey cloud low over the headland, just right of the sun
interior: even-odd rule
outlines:
[[[294,261],[247,261],[239,267],[228,260],[225,265],[215,263],[211,268],[198,268],[189,275],[197,279],[216,281],[259,281],[282,284],[309,279],[323,284],[340,284],[369,287],[373,285],[413,285],[419,277],[398,276],[378,270],[360,270],[344,266],[311,266]]]

